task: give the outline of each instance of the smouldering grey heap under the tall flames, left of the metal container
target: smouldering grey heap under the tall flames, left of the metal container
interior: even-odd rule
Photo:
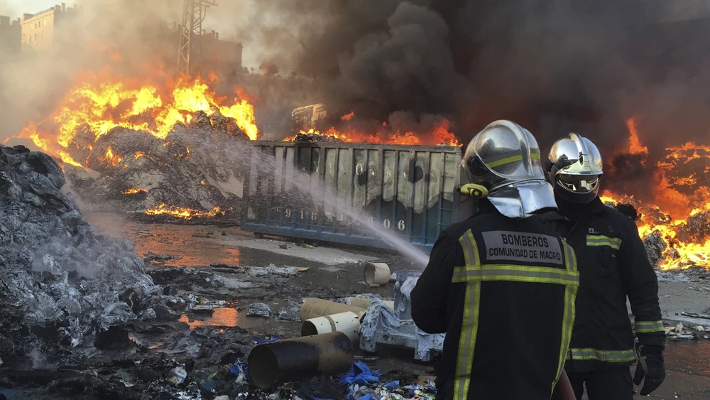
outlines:
[[[193,114],[165,140],[121,127],[96,139],[84,126],[71,153],[87,168],[67,166],[67,178],[87,210],[230,221],[239,217],[245,146],[249,137],[219,112]]]

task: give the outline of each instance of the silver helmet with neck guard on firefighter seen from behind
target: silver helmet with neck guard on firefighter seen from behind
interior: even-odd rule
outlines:
[[[555,209],[552,186],[540,165],[540,146],[513,121],[493,121],[466,147],[469,182],[488,189],[488,200],[506,217],[530,217]]]

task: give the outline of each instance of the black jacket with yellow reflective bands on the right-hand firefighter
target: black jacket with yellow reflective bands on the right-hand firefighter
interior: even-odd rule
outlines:
[[[560,199],[557,203],[559,211],[540,220],[574,247],[580,275],[567,371],[589,372],[635,362],[627,297],[638,342],[664,346],[658,283],[634,222],[599,198],[589,205]]]

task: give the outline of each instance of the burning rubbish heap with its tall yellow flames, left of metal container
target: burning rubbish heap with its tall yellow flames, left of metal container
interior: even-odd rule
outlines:
[[[62,160],[84,202],[184,220],[238,206],[235,148],[258,135],[249,102],[236,98],[230,105],[199,77],[162,90],[87,80],[97,83],[84,82],[50,119],[19,135]]]

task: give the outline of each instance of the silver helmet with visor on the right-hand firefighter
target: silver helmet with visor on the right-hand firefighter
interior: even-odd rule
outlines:
[[[569,202],[591,202],[599,194],[603,161],[599,148],[578,134],[552,144],[545,166],[555,194]]]

